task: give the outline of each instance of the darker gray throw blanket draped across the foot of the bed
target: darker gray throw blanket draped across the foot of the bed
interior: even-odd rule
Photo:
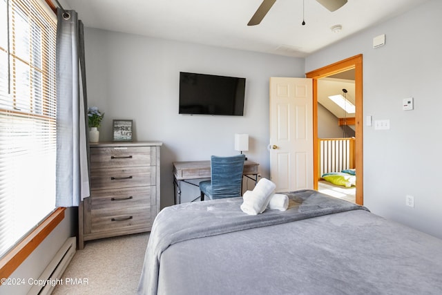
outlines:
[[[242,212],[242,198],[193,202],[166,207],[155,218],[137,294],[157,294],[162,254],[178,242],[245,229],[279,225],[332,213],[365,209],[313,190],[287,193],[289,209],[267,209],[257,216]]]

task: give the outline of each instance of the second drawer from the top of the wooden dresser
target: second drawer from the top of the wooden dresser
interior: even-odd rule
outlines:
[[[93,169],[90,175],[90,189],[120,189],[155,185],[156,167]]]

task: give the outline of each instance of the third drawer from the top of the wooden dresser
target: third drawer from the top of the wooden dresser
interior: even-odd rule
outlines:
[[[120,208],[155,206],[156,187],[133,187],[128,189],[102,189],[90,192],[90,209],[114,211]]]

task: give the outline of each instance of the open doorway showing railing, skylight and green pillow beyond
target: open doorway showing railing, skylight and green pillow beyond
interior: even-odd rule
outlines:
[[[318,191],[356,203],[354,68],[318,79]]]

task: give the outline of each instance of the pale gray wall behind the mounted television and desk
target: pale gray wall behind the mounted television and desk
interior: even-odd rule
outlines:
[[[100,141],[112,140],[113,119],[132,119],[135,140],[164,142],[162,207],[173,204],[172,162],[234,155],[235,133],[249,133],[247,156],[269,177],[269,77],[305,77],[304,59],[93,28],[85,44],[89,106],[105,113]],[[245,77],[244,116],[179,115],[180,71]]]

